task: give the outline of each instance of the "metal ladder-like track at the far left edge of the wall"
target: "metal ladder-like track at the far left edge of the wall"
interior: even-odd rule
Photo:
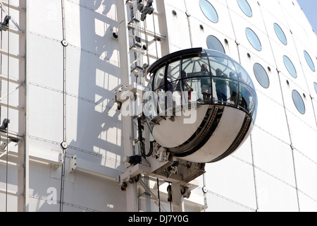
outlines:
[[[0,1],[0,166],[6,169],[6,181],[0,186],[5,211],[28,211],[29,159],[25,145],[26,97],[25,97],[25,49],[26,49],[26,1]],[[11,49],[10,40],[18,37],[19,44]],[[11,64],[13,64],[11,66]],[[11,73],[12,67],[18,74]],[[11,97],[13,96],[13,97]],[[11,126],[12,125],[12,126]],[[16,203],[16,204],[15,204]],[[2,206],[5,205],[5,206]],[[15,206],[16,205],[16,206]],[[15,209],[16,207],[16,209]]]

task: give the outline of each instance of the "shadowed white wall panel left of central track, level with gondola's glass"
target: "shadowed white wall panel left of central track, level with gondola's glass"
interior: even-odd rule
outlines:
[[[72,47],[67,49],[66,61],[67,93],[113,106],[114,91],[121,85],[118,63]]]

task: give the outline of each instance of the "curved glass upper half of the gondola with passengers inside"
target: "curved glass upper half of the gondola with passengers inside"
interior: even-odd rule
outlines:
[[[144,98],[148,121],[190,102],[234,107],[255,118],[254,83],[237,61],[221,52],[185,49],[159,59],[148,72],[151,80]]]

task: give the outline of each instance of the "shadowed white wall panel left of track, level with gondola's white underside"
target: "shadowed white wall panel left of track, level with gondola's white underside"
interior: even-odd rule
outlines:
[[[124,152],[120,114],[106,105],[94,105],[74,97],[68,97],[67,102],[70,153],[113,169],[122,168]],[[103,110],[99,112],[96,108]]]

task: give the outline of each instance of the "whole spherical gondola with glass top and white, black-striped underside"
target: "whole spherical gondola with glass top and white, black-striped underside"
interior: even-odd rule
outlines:
[[[254,126],[257,96],[247,71],[210,49],[168,54],[148,70],[144,115],[159,145],[191,162],[233,153]]]

